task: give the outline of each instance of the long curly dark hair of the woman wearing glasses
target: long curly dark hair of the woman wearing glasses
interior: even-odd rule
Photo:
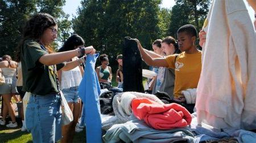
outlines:
[[[38,13],[32,16],[23,27],[22,38],[19,42],[16,51],[16,59],[20,61],[20,51],[23,46],[24,41],[28,39],[35,40],[39,42],[42,37],[44,31],[51,27],[57,25],[57,22],[53,16],[46,13]],[[46,47],[49,53],[52,53],[51,47]]]

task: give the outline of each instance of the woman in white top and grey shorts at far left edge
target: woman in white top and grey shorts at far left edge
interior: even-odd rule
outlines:
[[[11,122],[6,127],[14,128],[18,124],[15,119],[15,111],[11,97],[17,93],[16,89],[16,68],[18,64],[11,59],[9,55],[2,57],[3,61],[0,62],[0,68],[2,75],[5,77],[5,84],[0,85],[0,94],[3,98],[3,118],[0,120],[0,125],[6,124],[6,116],[9,113],[11,116]]]

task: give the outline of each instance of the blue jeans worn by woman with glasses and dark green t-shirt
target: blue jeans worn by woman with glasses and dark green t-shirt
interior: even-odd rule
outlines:
[[[56,142],[61,138],[60,96],[31,95],[26,110],[26,127],[33,142]]]

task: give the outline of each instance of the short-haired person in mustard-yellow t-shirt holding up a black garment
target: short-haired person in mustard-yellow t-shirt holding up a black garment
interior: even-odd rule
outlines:
[[[196,47],[196,28],[191,25],[183,25],[177,31],[179,49],[182,53],[168,55],[164,58],[151,58],[141,46],[139,40],[139,51],[142,59],[149,66],[168,67],[175,69],[174,98],[178,102],[185,102],[182,90],[197,88],[201,73],[201,51]]]

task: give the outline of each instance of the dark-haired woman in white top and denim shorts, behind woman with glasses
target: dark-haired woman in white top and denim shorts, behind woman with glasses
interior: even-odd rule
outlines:
[[[81,46],[84,46],[84,40],[79,35],[73,34],[64,42],[64,45],[59,49],[59,52],[74,50]],[[60,81],[60,89],[68,102],[69,108],[73,112],[73,122],[62,127],[63,138],[61,138],[61,142],[72,142],[75,134],[75,127],[81,113],[81,98],[78,94],[78,86],[82,80],[82,75],[84,75],[82,63],[84,63],[85,57],[80,59],[81,60],[79,60],[78,57],[75,57],[67,61],[77,60],[77,65],[72,65],[72,70],[66,71],[64,68],[61,68],[57,71]]]

